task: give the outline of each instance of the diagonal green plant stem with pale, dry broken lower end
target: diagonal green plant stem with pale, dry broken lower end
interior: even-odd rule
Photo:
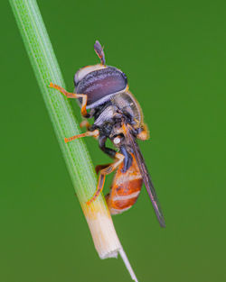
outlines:
[[[99,257],[101,259],[117,257],[119,253],[131,277],[137,281],[118,241],[104,197],[101,195],[90,206],[86,205],[96,190],[97,177],[84,142],[76,140],[68,144],[64,143],[64,137],[79,134],[80,127],[72,113],[69,100],[49,87],[51,82],[62,87],[65,87],[65,84],[38,5],[35,0],[10,0],[9,2]]]

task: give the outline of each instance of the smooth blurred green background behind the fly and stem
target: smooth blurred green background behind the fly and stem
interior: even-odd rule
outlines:
[[[69,90],[78,68],[99,61],[98,39],[143,108],[151,140],[140,147],[166,228],[145,189],[114,217],[138,280],[226,281],[225,1],[38,4]],[[14,15],[1,5],[0,282],[131,281],[121,259],[94,249]],[[86,143],[95,165],[108,162]]]

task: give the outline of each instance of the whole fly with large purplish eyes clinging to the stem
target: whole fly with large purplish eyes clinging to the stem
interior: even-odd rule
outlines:
[[[61,86],[52,83],[50,85],[60,90],[63,95],[78,99],[84,118],[94,118],[92,125],[87,120],[80,124],[81,127],[87,128],[87,132],[65,138],[65,142],[93,136],[98,139],[99,148],[114,159],[111,164],[96,167],[99,182],[95,194],[87,204],[99,196],[106,175],[116,170],[110,192],[106,196],[110,213],[121,214],[134,205],[144,183],[158,222],[165,227],[155,188],[137,145],[137,139],[147,140],[149,137],[142,110],[128,90],[127,76],[120,69],[106,65],[105,54],[99,41],[95,42],[94,50],[100,63],[80,68],[76,72],[74,93],[67,92]],[[106,146],[108,139],[116,150]]]

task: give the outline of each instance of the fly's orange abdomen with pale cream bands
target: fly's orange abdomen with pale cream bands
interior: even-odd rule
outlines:
[[[123,163],[118,167],[110,193],[106,196],[110,214],[121,214],[137,202],[143,179],[137,161],[133,155],[132,157],[132,165],[125,173],[121,172]]]

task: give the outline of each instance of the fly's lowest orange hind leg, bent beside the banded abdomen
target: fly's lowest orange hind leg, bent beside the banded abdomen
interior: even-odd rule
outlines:
[[[113,164],[110,164],[107,168],[103,168],[103,169],[100,170],[100,172],[99,172],[99,183],[98,183],[96,192],[89,199],[89,201],[86,203],[87,205],[90,205],[93,201],[96,200],[96,198],[99,196],[99,194],[103,190],[106,175],[110,174],[116,168],[118,168],[120,163],[123,161],[124,156],[122,154],[120,154],[120,153],[117,153],[116,154],[116,159],[118,159],[116,162],[114,162]]]

